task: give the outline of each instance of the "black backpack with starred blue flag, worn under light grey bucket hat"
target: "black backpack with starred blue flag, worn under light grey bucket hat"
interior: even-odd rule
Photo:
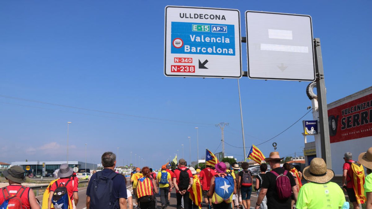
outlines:
[[[53,192],[52,196],[52,204],[54,205],[55,209],[69,209],[70,205],[70,196],[68,196],[67,192],[67,184],[71,180],[69,179],[65,184],[62,182],[58,184],[58,181],[55,181],[55,185],[57,188]]]

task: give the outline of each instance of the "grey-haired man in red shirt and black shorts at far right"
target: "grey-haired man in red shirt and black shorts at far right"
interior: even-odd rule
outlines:
[[[347,192],[350,202],[353,203],[354,209],[360,209],[359,204],[356,201],[355,191],[353,188],[353,183],[351,181],[352,178],[351,164],[355,163],[355,161],[353,161],[353,154],[351,152],[346,152],[343,158],[345,163],[342,168],[343,169],[342,187]]]

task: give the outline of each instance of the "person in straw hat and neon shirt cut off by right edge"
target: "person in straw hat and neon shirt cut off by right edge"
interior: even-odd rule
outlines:
[[[358,161],[367,168],[368,176],[365,177],[364,192],[367,197],[366,209],[372,209],[372,147],[359,154]]]

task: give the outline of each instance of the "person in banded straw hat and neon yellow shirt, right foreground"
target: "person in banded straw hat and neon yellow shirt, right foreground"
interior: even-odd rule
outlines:
[[[312,159],[302,174],[310,182],[304,184],[298,193],[297,209],[348,208],[340,186],[330,182],[334,177],[333,170],[327,168],[322,158]]]

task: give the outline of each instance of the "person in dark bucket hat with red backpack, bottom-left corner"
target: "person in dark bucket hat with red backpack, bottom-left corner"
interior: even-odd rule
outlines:
[[[7,208],[8,204],[17,204],[26,209],[40,209],[39,203],[36,201],[35,194],[29,187],[22,186],[26,181],[25,170],[18,165],[10,167],[3,171],[5,179],[9,186],[1,188],[0,191],[0,205]],[[20,200],[20,202],[19,202]]]

